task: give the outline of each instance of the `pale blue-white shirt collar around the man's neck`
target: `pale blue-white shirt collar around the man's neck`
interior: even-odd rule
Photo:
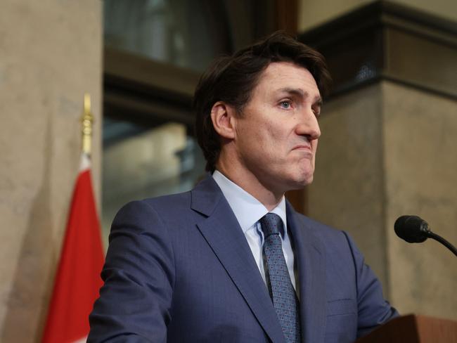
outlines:
[[[262,205],[262,202],[259,202],[254,198],[250,193],[247,193],[243,188],[238,186],[233,181],[227,179],[224,174],[216,170],[212,174],[214,181],[216,181],[219,188],[222,190],[222,194],[226,198],[228,205],[230,205],[233,213],[238,219],[238,223],[243,230],[243,233],[251,228],[254,224],[259,221],[265,214],[269,211]],[[281,199],[278,206],[270,211],[271,213],[278,214],[283,221],[284,228],[287,228],[287,218],[285,216],[285,198]],[[283,237],[286,234],[286,230],[282,233]]]

